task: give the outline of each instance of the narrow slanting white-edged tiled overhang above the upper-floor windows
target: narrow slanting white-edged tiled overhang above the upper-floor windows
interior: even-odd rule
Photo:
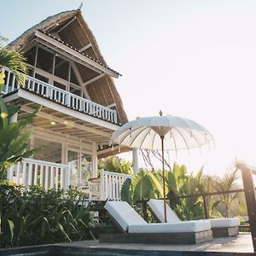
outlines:
[[[66,44],[63,44],[60,40],[49,37],[44,32],[36,31],[35,36],[36,36],[36,41],[38,41],[39,43],[46,45],[50,49],[54,49],[58,53],[65,55],[68,58],[73,59],[74,61],[79,62],[85,67],[91,68],[97,73],[105,73],[106,75],[116,79],[119,77],[119,73],[116,73],[112,69],[106,66],[103,66],[102,64],[98,63],[95,60],[92,60],[90,57],[87,57],[86,55],[79,53],[78,50],[70,48]]]

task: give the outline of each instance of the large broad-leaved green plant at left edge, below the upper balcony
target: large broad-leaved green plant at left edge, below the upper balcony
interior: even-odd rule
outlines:
[[[0,180],[6,178],[10,166],[32,155],[32,150],[26,149],[31,131],[23,134],[21,131],[32,122],[39,109],[27,119],[11,123],[11,118],[18,110],[19,108],[14,106],[7,106],[0,97]]]

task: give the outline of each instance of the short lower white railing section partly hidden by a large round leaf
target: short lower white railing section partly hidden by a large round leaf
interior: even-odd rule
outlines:
[[[122,185],[128,177],[132,178],[134,176],[101,170],[100,199],[120,200]]]

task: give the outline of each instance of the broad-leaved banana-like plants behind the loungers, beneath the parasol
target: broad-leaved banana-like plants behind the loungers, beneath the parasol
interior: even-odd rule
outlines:
[[[170,206],[181,219],[203,218],[201,198],[185,198],[179,200],[179,195],[198,193],[198,185],[202,169],[193,176],[188,174],[186,166],[172,167],[172,172],[165,172],[166,194],[170,198]],[[131,180],[126,179],[121,189],[121,198],[130,204],[150,198],[163,198],[162,172],[141,171]]]

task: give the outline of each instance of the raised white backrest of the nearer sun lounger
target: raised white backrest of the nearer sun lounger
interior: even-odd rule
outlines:
[[[129,225],[147,224],[126,201],[108,201],[104,207],[124,231]]]

